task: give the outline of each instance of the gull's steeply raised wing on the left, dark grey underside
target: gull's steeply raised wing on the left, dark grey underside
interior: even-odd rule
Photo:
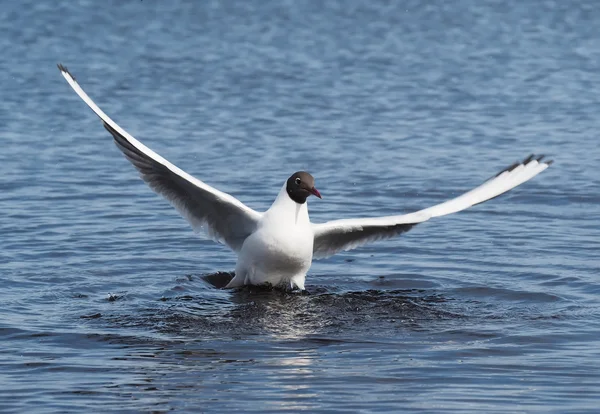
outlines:
[[[117,147],[150,188],[166,198],[194,230],[204,228],[213,240],[239,251],[262,214],[192,177],[132,137],[90,99],[66,67],[58,65],[58,68],[77,95],[100,117]]]

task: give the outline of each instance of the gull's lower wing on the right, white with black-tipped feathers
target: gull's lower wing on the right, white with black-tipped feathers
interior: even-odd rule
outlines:
[[[457,213],[475,204],[498,197],[532,179],[552,164],[552,161],[544,162],[542,159],[543,156],[536,158],[534,155],[530,155],[522,162],[517,162],[500,171],[479,187],[415,213],[313,224],[314,257],[329,257],[343,250],[351,250],[373,241],[388,239],[407,232],[415,225],[432,217]]]

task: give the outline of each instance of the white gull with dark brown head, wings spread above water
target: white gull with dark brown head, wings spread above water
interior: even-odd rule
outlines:
[[[167,199],[196,231],[227,245],[237,254],[235,276],[225,288],[270,285],[304,290],[313,259],[330,257],[367,243],[405,233],[419,223],[491,200],[526,181],[552,161],[530,155],[456,198],[414,213],[312,223],[307,200],[321,197],[315,179],[305,171],[292,174],[265,212],[200,181],[152,151],[108,117],[59,64],[62,76],[100,118],[117,147],[156,193]]]

